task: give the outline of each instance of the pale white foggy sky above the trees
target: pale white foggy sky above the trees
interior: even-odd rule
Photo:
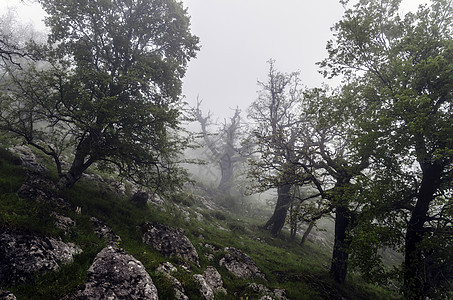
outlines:
[[[414,10],[426,1],[403,0],[403,8]],[[17,6],[24,23],[44,28],[39,23],[44,16],[39,5],[26,2],[0,0],[0,15],[7,6]],[[325,81],[315,63],[327,56],[330,27],[343,14],[338,0],[183,2],[191,16],[192,32],[200,37],[202,46],[184,80],[183,93],[192,106],[199,95],[202,109],[220,120],[231,116],[237,106],[245,117],[246,108],[257,97],[257,80],[266,80],[270,58],[281,71],[301,71],[308,87]]]

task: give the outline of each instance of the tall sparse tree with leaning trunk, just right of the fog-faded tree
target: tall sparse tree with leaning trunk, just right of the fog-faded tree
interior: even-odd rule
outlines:
[[[264,228],[278,235],[292,201],[291,187],[304,181],[296,167],[302,87],[299,73],[278,72],[273,60],[267,81],[258,84],[261,91],[248,112],[253,121],[248,143],[256,145],[250,176],[256,191],[277,189],[275,210]]]

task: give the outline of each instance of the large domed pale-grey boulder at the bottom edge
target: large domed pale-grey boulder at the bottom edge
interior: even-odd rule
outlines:
[[[85,286],[64,299],[153,299],[157,289],[143,264],[119,248],[96,255]]]

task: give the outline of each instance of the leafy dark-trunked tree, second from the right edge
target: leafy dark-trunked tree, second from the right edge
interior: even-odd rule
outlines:
[[[349,97],[347,89],[332,91],[311,89],[305,92],[305,122],[301,139],[299,166],[327,203],[318,209],[318,218],[328,211],[335,214],[334,247],[330,274],[344,283],[348,270],[353,231],[365,210],[360,201],[359,178],[368,170],[373,133],[361,126],[367,118],[360,103]],[[369,139],[357,143],[367,131]]]

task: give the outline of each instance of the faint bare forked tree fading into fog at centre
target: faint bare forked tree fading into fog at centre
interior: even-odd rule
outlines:
[[[226,195],[231,195],[233,188],[233,180],[235,168],[238,163],[245,160],[245,155],[242,154],[242,147],[239,143],[239,131],[241,127],[241,111],[236,108],[230,122],[223,124],[217,133],[209,132],[209,125],[211,124],[211,115],[203,116],[200,109],[201,101],[197,102],[197,107],[194,109],[194,117],[201,125],[201,134],[207,148],[212,154],[211,159],[219,164],[221,177],[217,190]],[[231,198],[233,199],[233,198]],[[229,203],[234,206],[234,203]]]

